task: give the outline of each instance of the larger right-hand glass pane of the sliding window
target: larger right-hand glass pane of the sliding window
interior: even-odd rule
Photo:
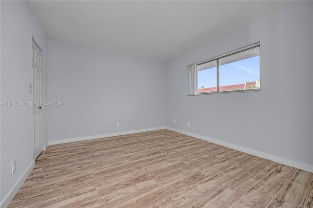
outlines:
[[[219,60],[219,91],[260,88],[260,48],[252,48]]]

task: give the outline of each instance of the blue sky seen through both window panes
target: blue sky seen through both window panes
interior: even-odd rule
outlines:
[[[260,56],[220,65],[220,86],[260,80]],[[216,67],[198,72],[198,88],[216,87]]]

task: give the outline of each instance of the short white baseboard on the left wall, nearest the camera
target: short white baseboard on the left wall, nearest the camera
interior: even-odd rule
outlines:
[[[22,176],[19,178],[19,180],[15,183],[15,185],[11,188],[9,193],[3,198],[1,201],[0,207],[6,208],[11,203],[12,199],[14,198],[15,194],[19,191],[19,189],[22,187],[23,183],[25,182],[26,178],[30,174],[30,172],[35,167],[36,162],[33,161],[28,168],[25,170],[25,172],[22,174]]]

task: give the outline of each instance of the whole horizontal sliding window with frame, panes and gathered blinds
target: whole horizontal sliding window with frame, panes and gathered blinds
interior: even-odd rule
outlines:
[[[259,91],[260,43],[188,67],[189,95]]]

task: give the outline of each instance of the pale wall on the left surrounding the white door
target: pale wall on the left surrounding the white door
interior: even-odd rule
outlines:
[[[1,15],[1,102],[30,102],[32,94],[32,38],[44,51],[46,69],[47,40],[27,1],[0,1]],[[46,79],[46,75],[44,75]],[[46,88],[45,88],[46,90]],[[22,185],[34,165],[31,106],[1,106],[0,202],[5,207]],[[44,111],[45,114],[45,111]],[[46,144],[46,141],[45,141]],[[11,162],[16,172],[11,174]]]

